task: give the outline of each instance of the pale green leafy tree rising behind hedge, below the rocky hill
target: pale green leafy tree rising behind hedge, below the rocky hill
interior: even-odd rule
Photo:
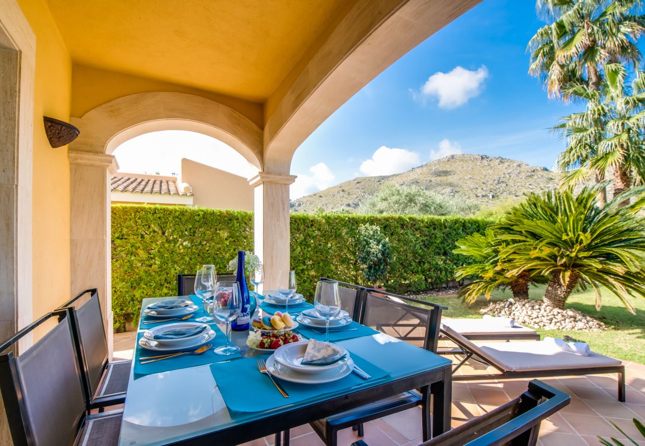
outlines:
[[[473,215],[479,205],[417,186],[386,184],[360,211],[366,215]]]

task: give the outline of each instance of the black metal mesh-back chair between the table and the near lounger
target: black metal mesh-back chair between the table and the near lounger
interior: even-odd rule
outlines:
[[[375,289],[363,289],[362,295],[361,324],[436,353],[441,312],[447,307]],[[422,395],[409,391],[317,420],[310,425],[326,445],[335,446],[338,431],[352,427],[362,436],[363,423],[421,403]]]

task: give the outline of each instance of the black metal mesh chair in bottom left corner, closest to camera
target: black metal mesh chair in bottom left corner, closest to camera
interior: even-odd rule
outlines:
[[[59,318],[45,336],[19,356],[0,355],[0,391],[14,445],[115,446],[123,411],[88,414],[70,309],[52,311],[5,343],[5,351],[50,318]]]

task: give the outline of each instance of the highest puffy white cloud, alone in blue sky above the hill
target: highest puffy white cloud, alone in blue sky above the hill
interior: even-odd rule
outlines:
[[[488,68],[482,65],[477,71],[455,67],[450,73],[437,72],[421,87],[427,96],[439,98],[439,107],[455,108],[481,93]]]

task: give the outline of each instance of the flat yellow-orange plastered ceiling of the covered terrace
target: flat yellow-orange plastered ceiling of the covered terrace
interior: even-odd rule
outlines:
[[[47,0],[77,64],[265,102],[355,0]]]

